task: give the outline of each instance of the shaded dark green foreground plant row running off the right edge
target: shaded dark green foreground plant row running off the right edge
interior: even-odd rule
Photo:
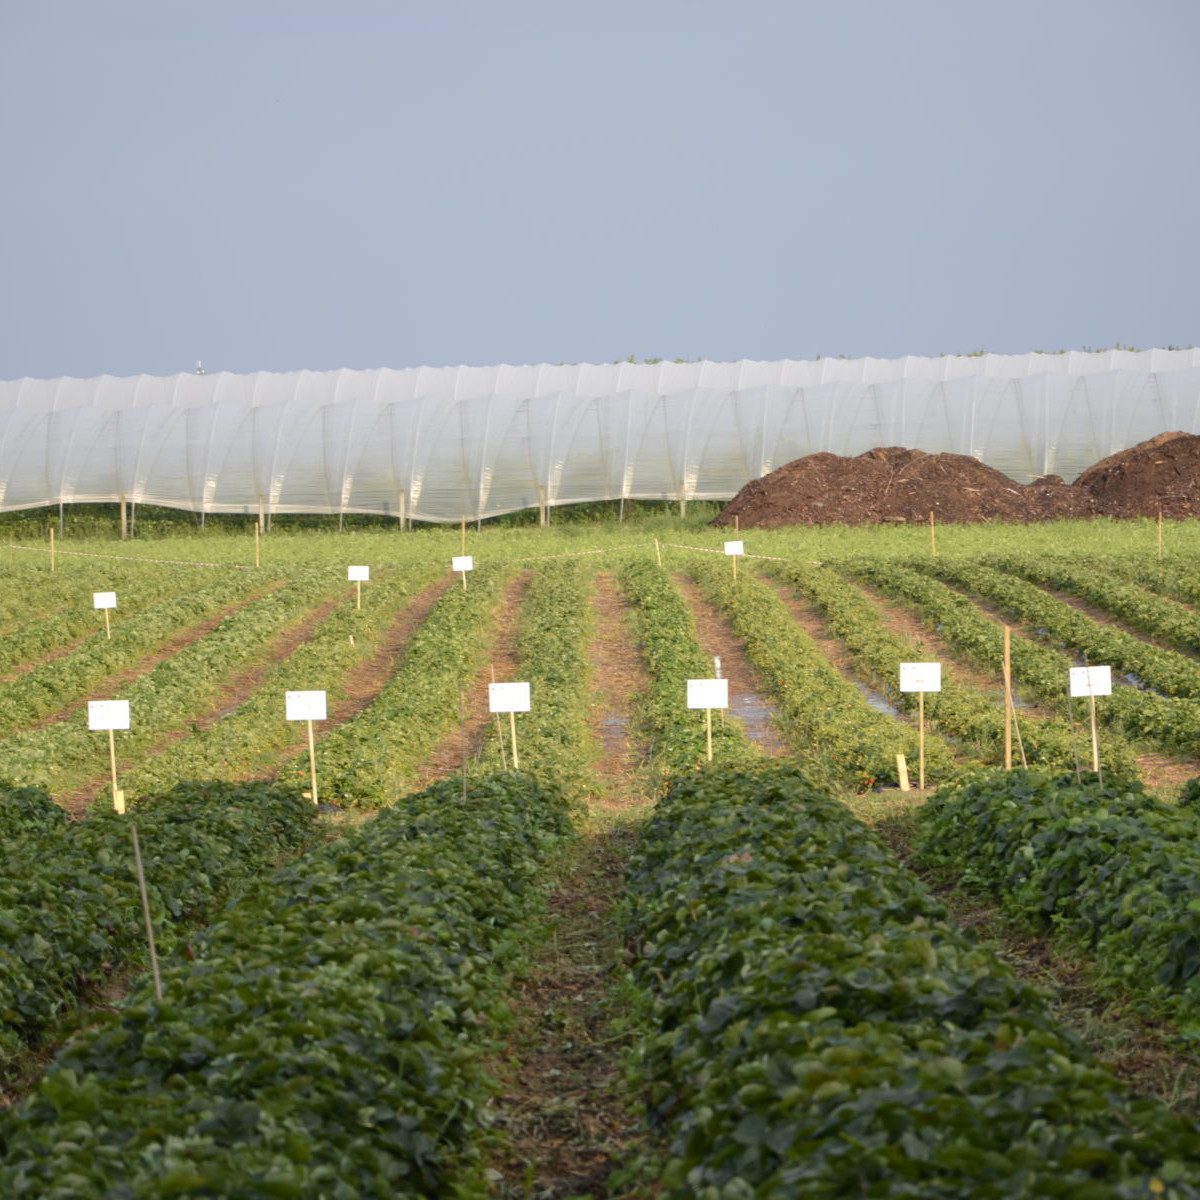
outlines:
[[[1190,811],[1138,785],[988,774],[920,814],[920,854],[1200,1032],[1200,846]]]

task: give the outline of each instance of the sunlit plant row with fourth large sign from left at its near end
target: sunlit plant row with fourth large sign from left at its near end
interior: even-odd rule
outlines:
[[[654,746],[664,775],[691,770],[707,760],[704,714],[685,707],[688,679],[709,679],[713,660],[696,641],[696,624],[666,571],[630,558],[618,580],[630,602],[634,630],[650,673],[650,686],[638,706],[638,719]],[[734,721],[713,722],[713,757],[718,762],[752,762],[757,751]]]

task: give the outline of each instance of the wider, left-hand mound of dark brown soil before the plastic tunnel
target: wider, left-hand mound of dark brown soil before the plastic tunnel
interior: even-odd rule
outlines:
[[[928,521],[1048,521],[1090,516],[1086,493],[1046,475],[1021,485],[977,458],[884,446],[857,458],[814,454],[752,480],[716,524],[770,529],[788,524]]]

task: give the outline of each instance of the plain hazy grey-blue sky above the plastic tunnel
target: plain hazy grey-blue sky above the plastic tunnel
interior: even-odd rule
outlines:
[[[0,378],[1200,342],[1195,0],[0,0]]]

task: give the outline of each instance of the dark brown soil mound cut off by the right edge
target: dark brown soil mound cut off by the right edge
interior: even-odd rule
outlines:
[[[802,460],[803,461],[803,460]],[[769,478],[769,476],[768,476]],[[1088,467],[1073,487],[1110,517],[1200,515],[1200,437],[1160,433]]]

